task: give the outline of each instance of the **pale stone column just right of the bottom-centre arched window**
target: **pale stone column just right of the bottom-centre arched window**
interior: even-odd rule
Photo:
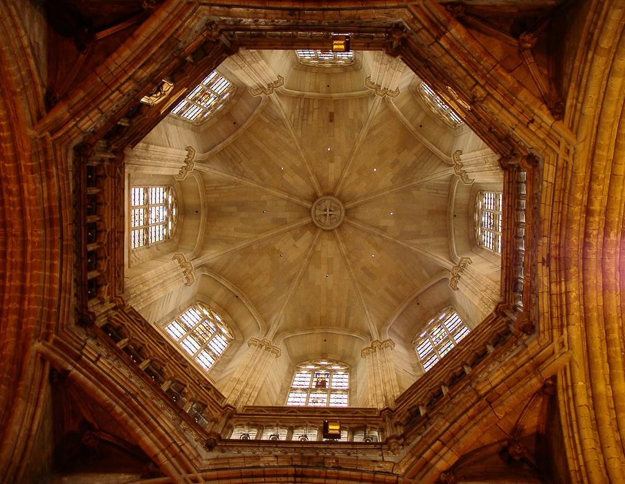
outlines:
[[[393,348],[395,342],[392,339],[382,342],[376,339],[361,351],[369,372],[369,404],[378,409],[392,408],[399,395]]]

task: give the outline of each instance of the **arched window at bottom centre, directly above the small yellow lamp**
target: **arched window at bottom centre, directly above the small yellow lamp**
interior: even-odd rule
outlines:
[[[347,407],[349,392],[347,366],[329,360],[314,360],[298,365],[287,405]]]

